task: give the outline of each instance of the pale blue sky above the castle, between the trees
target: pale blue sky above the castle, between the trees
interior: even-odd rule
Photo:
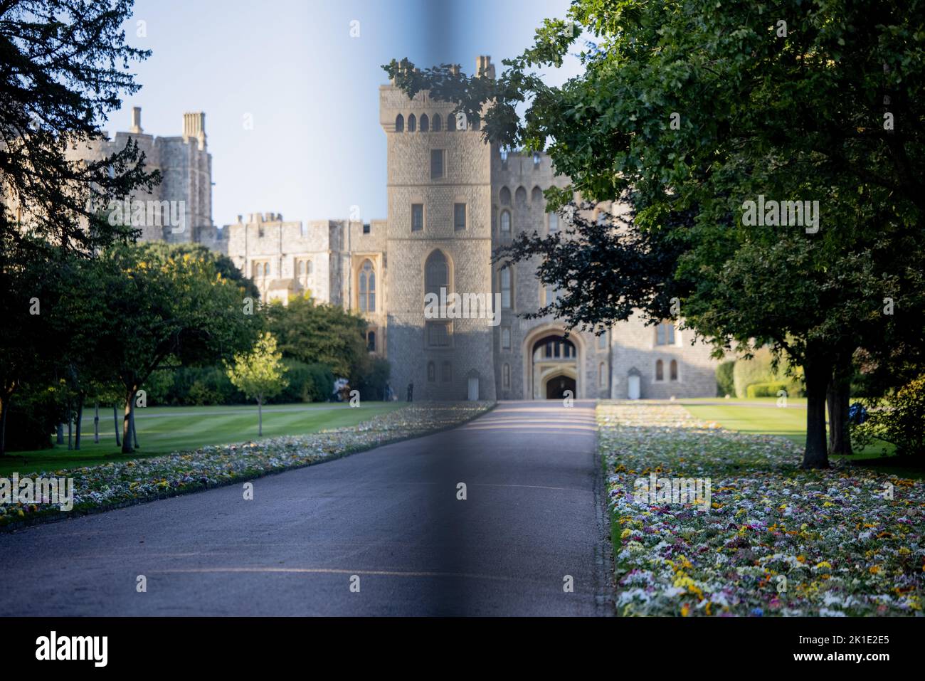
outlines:
[[[185,111],[204,111],[213,159],[213,217],[281,213],[289,220],[386,215],[386,142],[378,123],[380,65],[419,66],[519,54],[542,19],[568,0],[137,0],[126,24],[153,55],[132,70],[142,90],[105,124],[179,135]],[[142,20],[144,36],[138,35]],[[351,38],[351,21],[360,37]],[[579,71],[573,58],[549,82]],[[253,120],[247,130],[244,117]]]

